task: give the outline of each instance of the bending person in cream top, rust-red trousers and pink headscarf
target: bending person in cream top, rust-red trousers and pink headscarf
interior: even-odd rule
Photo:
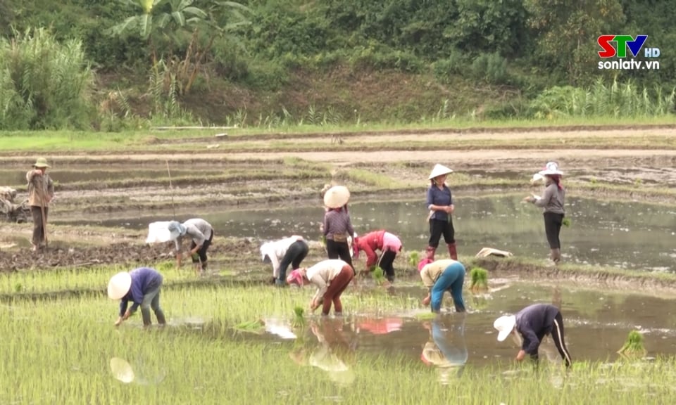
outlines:
[[[301,267],[292,271],[287,277],[287,283],[299,286],[313,283],[317,287],[317,293],[312,297],[310,309],[315,311],[322,306],[322,315],[327,316],[333,304],[334,313],[339,316],[343,312],[340,296],[353,277],[354,270],[349,263],[340,259],[327,259],[309,269]]]

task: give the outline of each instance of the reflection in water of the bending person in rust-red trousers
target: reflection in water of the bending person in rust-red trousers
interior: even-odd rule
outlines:
[[[338,385],[351,385],[355,380],[351,366],[355,363],[356,334],[346,330],[342,318],[313,321],[310,328],[317,341],[311,347],[294,349],[289,356],[301,366],[320,368]]]

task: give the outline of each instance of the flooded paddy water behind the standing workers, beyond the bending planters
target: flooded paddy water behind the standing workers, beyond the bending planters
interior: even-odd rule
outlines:
[[[672,208],[568,198],[566,209],[572,223],[561,231],[566,261],[676,271],[676,212]],[[420,201],[353,204],[350,210],[357,233],[387,229],[399,235],[406,250],[423,250],[427,246],[427,211]],[[323,209],[197,212],[194,216],[210,221],[220,235],[266,239],[297,233],[318,240]],[[165,219],[136,217],[92,223],[146,229],[149,222]],[[520,203],[520,196],[458,198],[453,223],[461,255],[475,255],[484,247],[537,259],[549,253],[542,213],[537,207]],[[445,256],[445,250],[442,241],[438,255]]]

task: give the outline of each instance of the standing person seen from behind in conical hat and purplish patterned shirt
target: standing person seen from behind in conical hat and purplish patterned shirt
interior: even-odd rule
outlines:
[[[344,186],[333,186],[324,193],[323,234],[329,259],[341,259],[352,266],[348,237],[354,235],[347,202],[350,191]]]

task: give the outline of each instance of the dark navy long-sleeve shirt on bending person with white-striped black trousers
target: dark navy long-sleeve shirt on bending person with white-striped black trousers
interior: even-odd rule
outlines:
[[[523,337],[521,349],[527,354],[537,354],[540,342],[554,325],[558,308],[551,304],[532,304],[525,307],[516,317],[516,330]]]

